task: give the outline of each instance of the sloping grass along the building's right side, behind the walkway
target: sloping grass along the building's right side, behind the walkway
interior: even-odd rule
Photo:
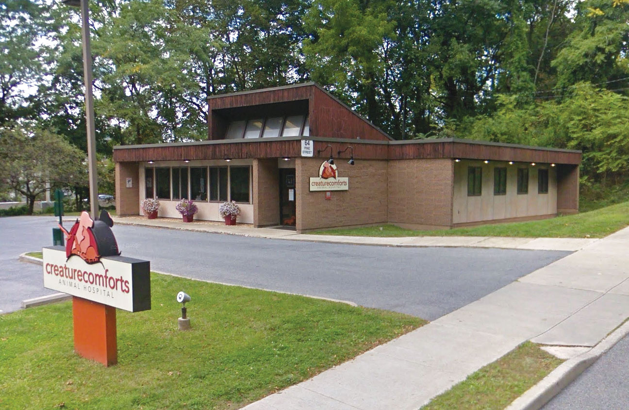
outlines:
[[[525,238],[603,238],[629,225],[629,202],[541,221],[486,224],[451,230],[420,231],[387,224],[320,230],[318,235],[347,236],[520,236]]]

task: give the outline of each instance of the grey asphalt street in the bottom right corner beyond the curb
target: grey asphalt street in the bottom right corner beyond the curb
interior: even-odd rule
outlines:
[[[629,336],[543,407],[544,410],[625,410],[629,407]]]

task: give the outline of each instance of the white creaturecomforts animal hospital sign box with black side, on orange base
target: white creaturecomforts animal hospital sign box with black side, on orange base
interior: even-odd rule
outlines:
[[[64,247],[43,248],[43,285],[130,312],[151,308],[149,262],[121,256],[87,263],[65,256]]]

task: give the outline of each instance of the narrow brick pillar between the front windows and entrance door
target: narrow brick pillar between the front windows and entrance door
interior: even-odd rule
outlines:
[[[253,160],[253,225],[279,224],[279,170],[277,160]]]

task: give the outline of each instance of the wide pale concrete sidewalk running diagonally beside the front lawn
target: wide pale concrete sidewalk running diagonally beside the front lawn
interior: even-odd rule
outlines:
[[[245,407],[417,409],[526,340],[594,346],[629,316],[629,228]]]

